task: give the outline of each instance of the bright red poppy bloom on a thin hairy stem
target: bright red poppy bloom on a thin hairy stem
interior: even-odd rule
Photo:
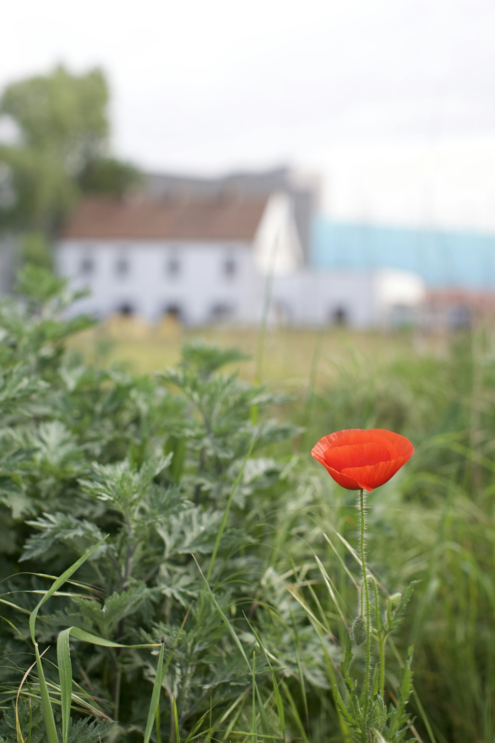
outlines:
[[[311,455],[342,487],[371,493],[390,480],[413,453],[413,444],[398,433],[351,428],[321,438]]]

